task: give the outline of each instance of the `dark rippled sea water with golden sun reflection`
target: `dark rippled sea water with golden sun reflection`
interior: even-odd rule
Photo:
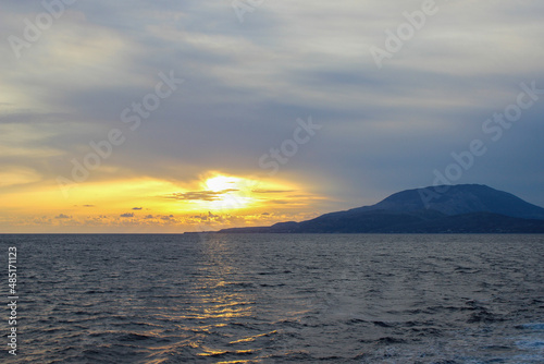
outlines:
[[[0,235],[5,363],[544,363],[544,235]]]

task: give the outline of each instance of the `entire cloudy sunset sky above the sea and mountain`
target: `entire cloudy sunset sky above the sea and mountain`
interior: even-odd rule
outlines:
[[[542,14],[3,1],[0,232],[269,226],[443,183],[544,206]]]

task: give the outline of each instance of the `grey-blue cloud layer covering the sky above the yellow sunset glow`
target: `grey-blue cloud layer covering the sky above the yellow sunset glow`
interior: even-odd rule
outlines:
[[[384,31],[421,3],[268,1],[239,23],[230,1],[79,1],[16,59],[8,37],[44,9],[10,2],[0,15],[0,166],[69,175],[72,158],[119,128],[126,143],[91,180],[265,175],[259,157],[312,116],[323,129],[277,177],[344,207],[432,184],[472,139],[489,150],[457,183],[544,205],[544,95],[499,141],[482,131],[521,83],[544,88],[544,3],[436,1],[379,69],[370,47],[385,48]],[[121,112],[171,70],[185,83],[131,131]]]

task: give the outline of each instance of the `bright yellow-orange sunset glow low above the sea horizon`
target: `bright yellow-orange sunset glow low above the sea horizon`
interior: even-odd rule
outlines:
[[[135,178],[89,181],[66,191],[54,183],[34,190],[39,175],[23,169],[2,175],[0,230],[11,227],[13,232],[178,232],[264,226],[306,219],[301,211],[320,199],[286,181],[215,171],[185,183]],[[63,193],[67,197],[62,198]],[[22,208],[35,213],[24,216]]]

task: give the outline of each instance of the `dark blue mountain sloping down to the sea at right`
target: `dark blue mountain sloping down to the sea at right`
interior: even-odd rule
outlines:
[[[223,229],[224,233],[544,233],[544,208],[486,185],[442,185],[301,222]]]

